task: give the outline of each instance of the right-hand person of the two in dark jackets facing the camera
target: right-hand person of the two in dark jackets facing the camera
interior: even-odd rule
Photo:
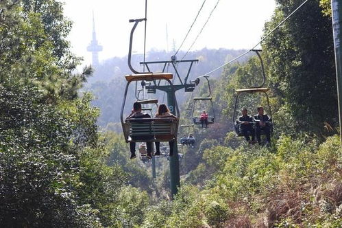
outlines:
[[[260,133],[261,130],[265,132],[267,143],[271,143],[271,128],[269,126],[269,116],[264,114],[264,108],[261,106],[257,108],[258,114],[254,115],[254,122],[256,122],[256,140],[261,144]]]

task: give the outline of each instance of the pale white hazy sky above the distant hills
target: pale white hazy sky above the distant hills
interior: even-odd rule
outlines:
[[[95,14],[97,40],[103,46],[99,53],[100,61],[127,55],[133,26],[128,20],[145,16],[145,0],[61,1],[64,1],[64,14],[73,21],[69,35],[73,52],[84,57],[84,64],[91,62],[91,54],[86,47],[92,38],[92,12]],[[147,51],[154,48],[171,52],[173,40],[178,49],[202,3],[202,0],[147,0]],[[191,46],[216,3],[217,0],[206,0],[182,50],[186,51]],[[264,23],[270,19],[275,7],[275,0],[219,1],[191,50],[204,47],[248,49],[254,46],[260,41]],[[144,23],[139,23],[134,34],[134,52],[143,52],[144,26]]]

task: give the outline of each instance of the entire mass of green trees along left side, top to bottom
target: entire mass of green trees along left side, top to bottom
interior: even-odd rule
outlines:
[[[99,110],[90,106],[92,95],[80,97],[77,91],[91,69],[71,73],[80,59],[65,40],[71,22],[64,19],[62,3],[0,6],[0,224],[133,223],[127,218],[141,214],[138,209],[118,209],[126,207],[121,194],[131,192],[130,186],[122,188],[127,173],[118,163],[108,166],[110,149],[97,131]]]

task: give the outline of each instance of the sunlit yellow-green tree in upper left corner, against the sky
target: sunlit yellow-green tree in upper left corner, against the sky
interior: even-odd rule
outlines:
[[[71,23],[57,1],[4,1],[0,4],[0,82],[23,80],[45,91],[49,99],[77,97],[91,69],[72,74],[80,63],[69,51]]]

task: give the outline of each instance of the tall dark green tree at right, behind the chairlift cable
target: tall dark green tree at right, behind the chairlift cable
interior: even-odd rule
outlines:
[[[302,1],[277,1],[265,34]],[[319,1],[308,1],[262,45],[273,92],[286,104],[298,132],[324,133],[337,126],[337,93],[332,23]]]

